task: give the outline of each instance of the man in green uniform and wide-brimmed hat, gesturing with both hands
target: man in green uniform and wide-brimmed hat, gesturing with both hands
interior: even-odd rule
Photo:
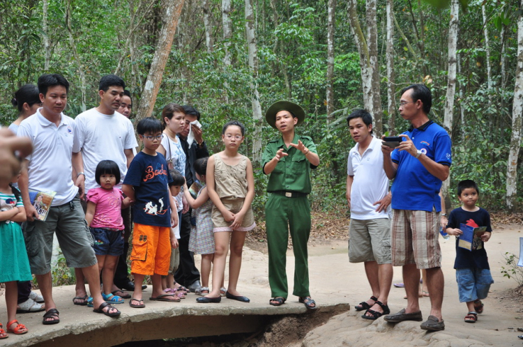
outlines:
[[[263,170],[271,193],[265,205],[268,282],[273,306],[287,300],[285,261],[287,240],[291,233],[294,249],[294,291],[308,309],[317,305],[310,298],[307,242],[310,234],[310,169],[319,165],[316,145],[310,137],[294,132],[294,126],[305,119],[305,112],[293,102],[278,101],[268,108],[265,119],[281,136],[270,141],[262,157]]]

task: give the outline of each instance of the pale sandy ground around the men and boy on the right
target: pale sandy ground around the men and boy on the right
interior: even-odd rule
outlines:
[[[483,300],[485,310],[478,316],[474,324],[465,323],[467,306],[460,303],[455,282],[455,241],[440,238],[444,254],[442,269],[445,277],[445,293],[443,315],[446,330],[427,333],[420,330],[418,322],[402,322],[396,325],[387,323],[383,318],[377,321],[367,321],[361,318],[361,313],[354,309],[331,318],[327,323],[310,331],[302,341],[295,341],[292,346],[522,346],[522,340],[517,339],[517,328],[523,328],[523,302],[510,302],[500,297],[500,293],[517,287],[513,279],[503,277],[501,267],[503,254],[510,252],[519,255],[519,239],[523,237],[523,226],[503,226],[494,229],[489,242],[485,244],[489,262],[494,277],[490,298]],[[253,251],[246,253],[245,263],[240,282],[250,282],[266,286],[266,263],[260,262],[261,255],[251,259]],[[287,254],[287,275],[292,288],[294,259],[291,251]],[[257,260],[257,261],[255,261]],[[252,264],[255,261],[256,264]],[[253,266],[254,265],[254,266]],[[352,307],[370,297],[372,292],[367,284],[363,263],[349,263],[347,242],[333,242],[331,245],[316,245],[310,247],[310,288],[312,298],[319,305],[322,301],[337,298],[349,302]],[[393,283],[402,282],[401,268],[394,268]],[[268,293],[268,295],[270,295]],[[267,295],[267,299],[269,296]],[[503,295],[502,295],[503,296]],[[392,288],[389,296],[389,306],[394,313],[404,308],[404,289]],[[498,297],[498,298],[494,298]],[[289,300],[296,300],[290,297]],[[430,298],[420,298],[423,318],[430,312]]]

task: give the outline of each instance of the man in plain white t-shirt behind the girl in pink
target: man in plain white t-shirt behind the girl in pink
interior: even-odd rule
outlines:
[[[123,179],[126,178],[130,162],[135,157],[132,150],[138,146],[135,129],[131,121],[116,110],[119,109],[123,90],[126,88],[123,79],[116,75],[105,75],[100,79],[98,95],[100,105],[82,112],[75,118],[79,148],[84,160],[85,194],[92,188],[100,187],[96,183],[96,166],[102,160],[112,160],[120,168],[121,181],[116,183],[121,188]],[[106,263],[107,269],[116,267],[116,263]],[[85,300],[85,286],[82,272],[75,270],[77,275],[75,304],[83,304]],[[114,287],[111,291],[116,291]],[[116,294],[125,295],[120,292]]]

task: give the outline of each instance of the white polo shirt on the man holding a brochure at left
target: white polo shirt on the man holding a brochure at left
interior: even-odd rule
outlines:
[[[33,143],[33,153],[26,157],[29,160],[29,189],[56,192],[51,206],[60,206],[73,200],[78,193],[71,177],[71,157],[75,148],[79,148],[75,121],[61,114],[57,127],[42,116],[40,110],[20,123],[17,136],[29,137]]]

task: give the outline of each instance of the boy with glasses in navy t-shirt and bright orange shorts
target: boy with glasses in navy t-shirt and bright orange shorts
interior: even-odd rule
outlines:
[[[167,275],[169,271],[171,247],[174,247],[171,226],[178,224],[176,208],[170,208],[176,204],[167,186],[172,182],[167,161],[161,153],[156,153],[162,141],[162,130],[162,123],[156,118],[147,117],[139,121],[136,131],[144,143],[144,149],[132,160],[122,191],[135,201],[132,206],[135,228],[130,256],[135,283],[142,283],[145,275],[150,275],[153,293],[149,300],[179,302],[179,298],[162,291],[162,275]],[[129,305],[145,307],[140,286],[135,286]]]

